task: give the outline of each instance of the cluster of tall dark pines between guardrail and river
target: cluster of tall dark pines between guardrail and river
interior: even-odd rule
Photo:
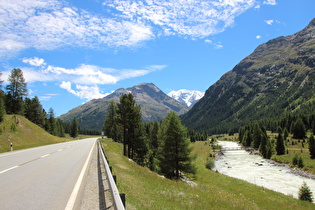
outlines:
[[[188,132],[175,112],[160,122],[143,122],[131,93],[121,95],[119,103],[110,102],[103,130],[108,138],[123,144],[125,156],[172,179],[179,179],[181,172],[195,173],[190,140],[207,138],[206,133]]]

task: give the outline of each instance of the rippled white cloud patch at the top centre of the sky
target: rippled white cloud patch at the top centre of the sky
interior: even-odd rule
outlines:
[[[121,18],[158,27],[159,34],[207,37],[234,23],[235,17],[255,6],[255,0],[106,0]]]

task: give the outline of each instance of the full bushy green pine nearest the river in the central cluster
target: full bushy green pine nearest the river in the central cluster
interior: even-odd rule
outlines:
[[[180,172],[195,173],[190,156],[191,148],[186,137],[186,128],[181,124],[175,112],[170,112],[163,120],[159,133],[161,138],[160,169],[167,178],[180,178]]]

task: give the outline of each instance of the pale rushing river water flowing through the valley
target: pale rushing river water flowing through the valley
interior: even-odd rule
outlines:
[[[236,142],[219,141],[223,148],[240,147]],[[315,197],[315,180],[290,173],[290,168],[276,166],[259,155],[245,150],[226,151],[215,161],[215,169],[221,174],[242,179],[285,195],[298,197],[303,183],[310,187]]]

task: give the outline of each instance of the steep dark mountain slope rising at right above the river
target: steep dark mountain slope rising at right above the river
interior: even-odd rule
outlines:
[[[278,119],[314,107],[315,19],[294,35],[258,46],[181,119],[190,128],[215,133],[246,120]]]

